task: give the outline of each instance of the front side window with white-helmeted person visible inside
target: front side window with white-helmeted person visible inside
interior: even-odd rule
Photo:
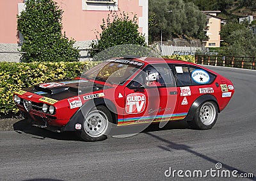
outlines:
[[[165,86],[175,86],[175,79],[170,67],[166,65],[148,65],[144,68],[140,74],[138,74],[132,80],[129,86],[132,87],[165,87]]]

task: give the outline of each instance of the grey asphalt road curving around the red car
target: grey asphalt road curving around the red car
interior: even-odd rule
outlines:
[[[223,170],[231,173],[224,180],[255,180],[256,71],[209,68],[228,77],[236,90],[211,130],[169,123],[129,138],[86,143],[72,133],[31,128],[20,120],[13,125],[16,131],[0,132],[0,180],[222,180]],[[170,175],[170,167],[184,171],[185,178],[177,171]],[[195,170],[208,177],[186,178]],[[237,177],[254,177],[234,178],[233,170]]]

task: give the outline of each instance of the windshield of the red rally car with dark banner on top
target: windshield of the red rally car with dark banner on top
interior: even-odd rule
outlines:
[[[104,61],[92,69],[84,72],[82,77],[111,84],[122,84],[143,66],[139,61],[129,59],[114,59]]]

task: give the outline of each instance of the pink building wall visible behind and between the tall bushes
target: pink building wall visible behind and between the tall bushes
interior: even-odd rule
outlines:
[[[63,31],[76,41],[95,39],[95,32],[100,31],[102,19],[106,19],[109,11],[83,10],[85,0],[55,0],[63,13]],[[118,0],[121,12],[135,13],[139,18],[140,32],[147,36],[147,0]],[[18,4],[22,0],[3,1],[0,6],[0,43],[17,43]]]

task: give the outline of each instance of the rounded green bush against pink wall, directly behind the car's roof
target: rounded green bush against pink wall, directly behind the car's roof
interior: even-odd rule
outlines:
[[[110,12],[106,20],[102,19],[102,33],[91,44],[92,49],[97,50],[90,51],[90,56],[116,45],[134,44],[146,47],[145,36],[138,31],[137,20],[136,15],[130,19],[128,13]]]

